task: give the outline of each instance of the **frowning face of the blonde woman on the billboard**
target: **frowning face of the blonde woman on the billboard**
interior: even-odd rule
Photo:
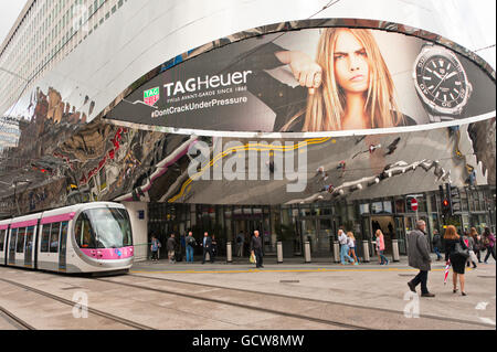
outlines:
[[[364,45],[348,30],[338,33],[334,67],[337,84],[348,93],[363,93],[369,86],[369,64]]]

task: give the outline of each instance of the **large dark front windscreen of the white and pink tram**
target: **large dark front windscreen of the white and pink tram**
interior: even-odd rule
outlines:
[[[121,209],[92,209],[76,221],[76,242],[80,248],[120,248],[133,245],[131,224]]]

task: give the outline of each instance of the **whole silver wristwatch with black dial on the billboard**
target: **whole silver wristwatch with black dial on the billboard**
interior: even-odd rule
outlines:
[[[452,51],[433,43],[424,44],[414,61],[413,78],[430,122],[453,120],[463,114],[473,86]]]

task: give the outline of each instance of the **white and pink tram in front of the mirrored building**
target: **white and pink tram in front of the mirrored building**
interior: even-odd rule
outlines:
[[[0,221],[0,265],[59,273],[128,270],[131,223],[118,203],[94,202]]]

